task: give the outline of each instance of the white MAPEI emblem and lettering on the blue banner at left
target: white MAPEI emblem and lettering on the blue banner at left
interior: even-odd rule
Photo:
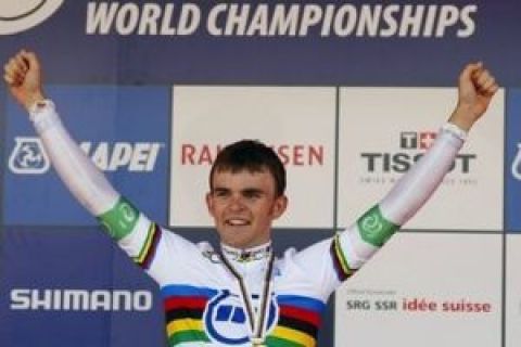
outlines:
[[[160,142],[81,142],[81,150],[103,171],[126,168],[131,172],[150,172],[155,168]],[[45,174],[50,160],[38,138],[16,137],[15,146],[9,158],[9,168],[18,175]]]

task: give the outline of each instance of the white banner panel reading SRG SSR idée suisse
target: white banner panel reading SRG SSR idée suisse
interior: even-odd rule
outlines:
[[[397,234],[336,292],[335,346],[499,346],[501,239]]]

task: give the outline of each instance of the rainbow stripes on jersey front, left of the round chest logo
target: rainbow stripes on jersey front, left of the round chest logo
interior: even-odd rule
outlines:
[[[204,331],[203,313],[217,291],[190,285],[168,285],[161,290],[164,298],[168,346],[209,342]]]

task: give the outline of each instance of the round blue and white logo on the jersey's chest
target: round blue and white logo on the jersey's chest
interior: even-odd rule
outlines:
[[[266,332],[274,329],[277,316],[278,307],[271,297]],[[229,291],[220,292],[208,303],[203,319],[206,332],[219,344],[243,346],[250,342],[246,313],[239,296],[230,294]]]

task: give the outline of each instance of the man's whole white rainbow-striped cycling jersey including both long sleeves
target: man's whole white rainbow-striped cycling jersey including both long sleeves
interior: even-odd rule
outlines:
[[[160,284],[170,346],[316,346],[330,294],[423,205],[463,143],[458,129],[443,127],[425,155],[355,223],[304,250],[287,250],[271,266],[270,244],[216,252],[150,221],[79,149],[51,101],[37,104],[30,119],[71,192]]]

